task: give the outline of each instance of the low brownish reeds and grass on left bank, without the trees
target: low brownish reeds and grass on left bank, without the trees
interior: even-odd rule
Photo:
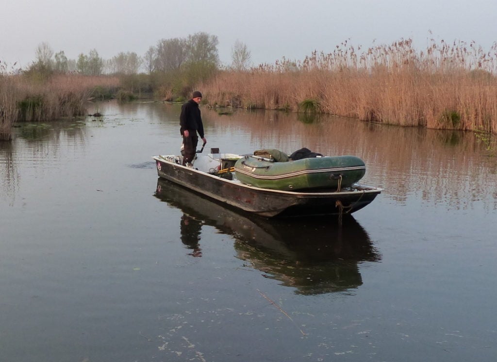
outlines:
[[[119,85],[116,77],[77,74],[34,78],[0,74],[0,140],[17,121],[54,120],[85,114],[84,103]]]

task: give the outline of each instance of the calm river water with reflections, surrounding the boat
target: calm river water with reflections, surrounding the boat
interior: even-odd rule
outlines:
[[[1,361],[492,361],[497,160],[473,133],[202,108],[209,147],[364,159],[345,217],[267,220],[158,180],[179,106],[89,105],[0,144]]]

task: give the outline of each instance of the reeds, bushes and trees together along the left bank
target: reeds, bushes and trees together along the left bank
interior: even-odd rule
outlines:
[[[48,43],[35,51],[26,70],[0,63],[0,140],[9,140],[18,121],[53,120],[85,113],[91,99],[130,101],[143,93],[163,100],[184,100],[192,85],[219,69],[218,39],[206,33],[162,39],[142,58],[121,52],[103,60],[93,49],[68,59]],[[146,66],[148,73],[138,73]]]

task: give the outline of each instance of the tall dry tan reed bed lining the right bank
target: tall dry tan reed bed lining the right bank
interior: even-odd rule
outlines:
[[[497,45],[411,40],[360,52],[346,42],[303,62],[282,60],[249,72],[219,73],[200,85],[210,104],[290,109],[314,100],[318,112],[432,129],[497,133]]]

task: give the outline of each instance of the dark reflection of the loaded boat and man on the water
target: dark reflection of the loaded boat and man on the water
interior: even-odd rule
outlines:
[[[200,230],[213,226],[235,239],[246,265],[299,294],[344,291],[362,285],[358,264],[380,259],[364,228],[350,215],[265,219],[232,211],[159,178],[155,196],[183,212],[181,241],[202,256]]]

